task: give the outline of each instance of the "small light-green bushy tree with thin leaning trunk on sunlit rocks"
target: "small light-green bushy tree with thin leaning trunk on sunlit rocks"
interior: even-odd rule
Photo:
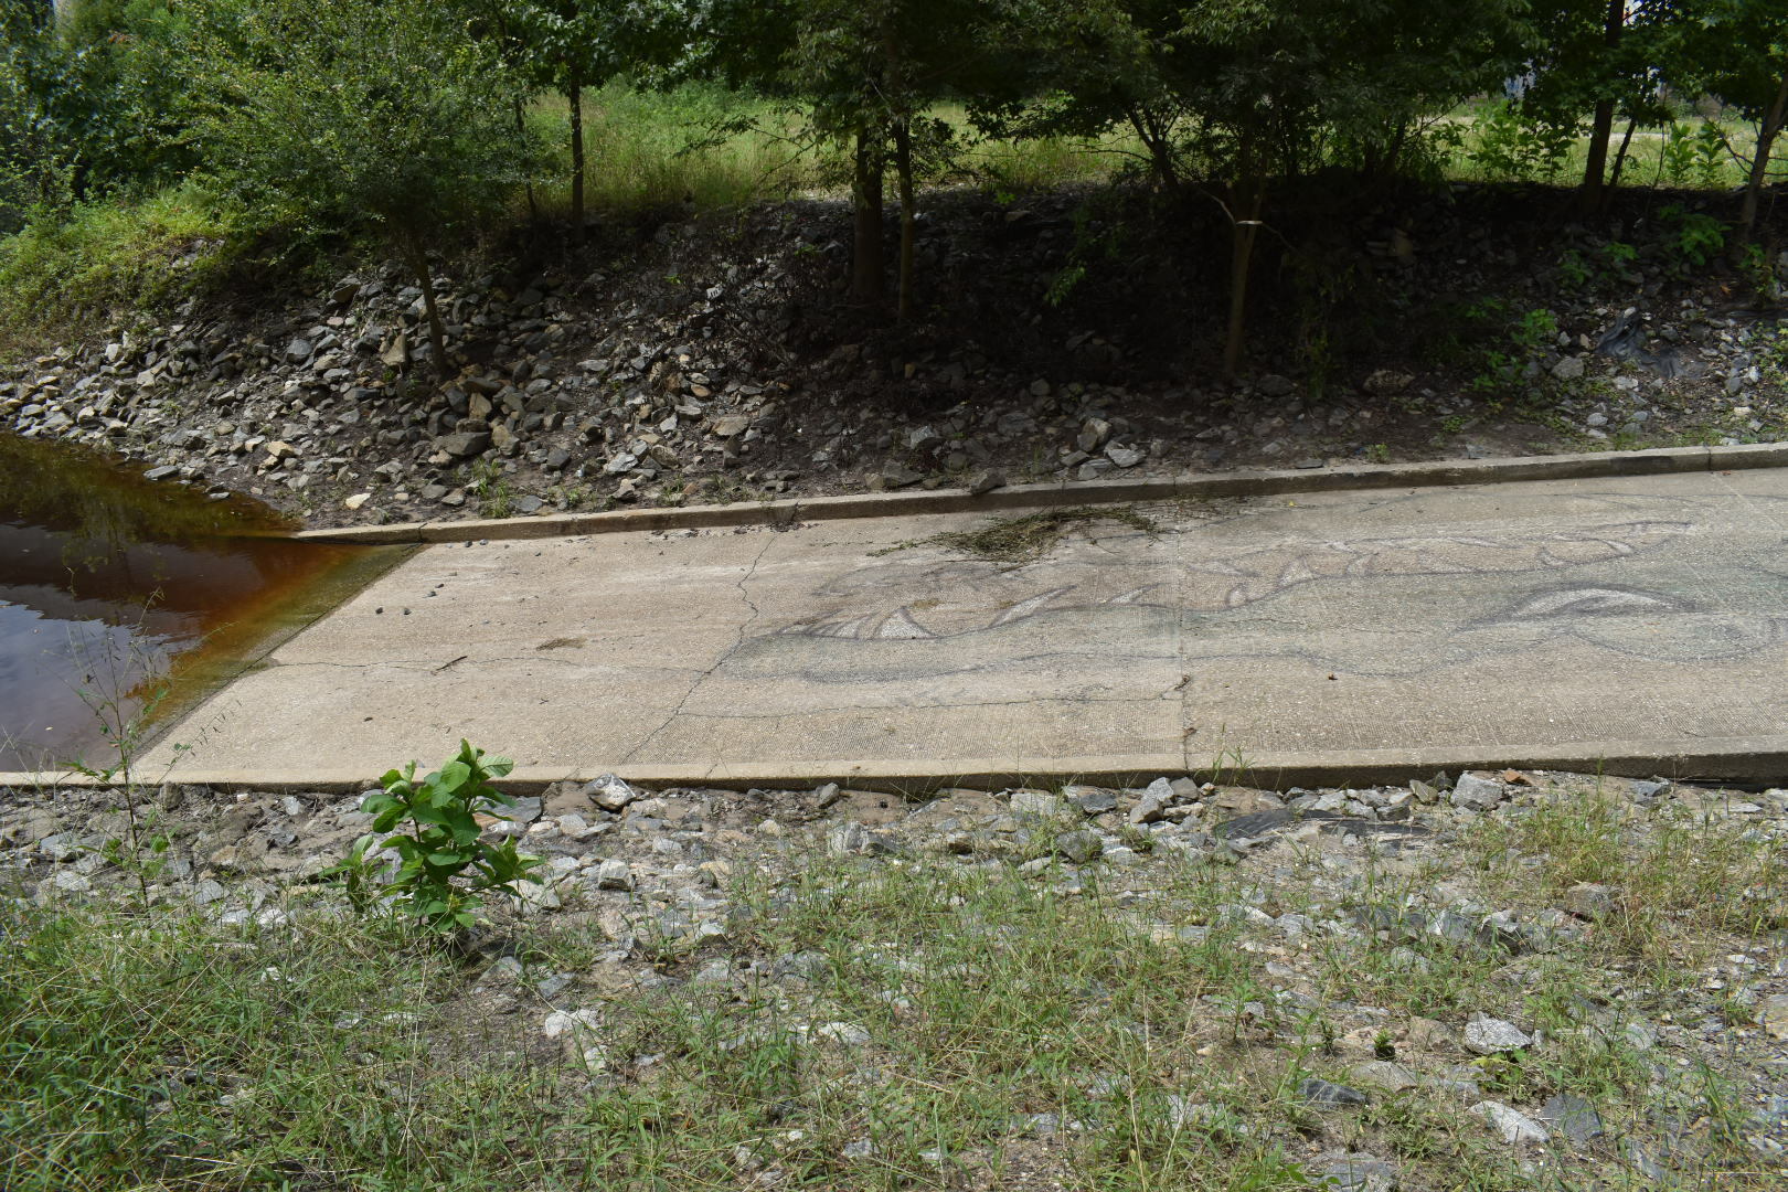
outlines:
[[[519,80],[440,0],[213,0],[195,32],[209,170],[275,222],[383,236],[417,275],[451,375],[427,245],[533,177]]]

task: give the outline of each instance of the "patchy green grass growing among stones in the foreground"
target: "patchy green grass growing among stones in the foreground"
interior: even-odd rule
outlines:
[[[1457,1094],[1298,1094],[1357,1085],[1362,1058],[1434,1070],[1445,1044],[1411,1024],[1479,1010],[1547,1042],[1459,1065],[1472,1099],[1568,1092],[1607,1122],[1559,1187],[1618,1174],[1620,1140],[1656,1146],[1657,1122],[1677,1122],[1663,1187],[1770,1187],[1743,1090],[1624,1026],[1686,1013],[1634,929],[1683,970],[1775,924],[1759,908],[1779,904],[1781,858],[1742,820],[1561,790],[1423,860],[1355,858],[1339,902],[1332,842],[1085,870],[1012,844],[772,849],[715,892],[726,929],[679,942],[653,935],[647,894],[626,928],[508,920],[511,979],[302,890],[236,928],[9,902],[0,1137],[21,1142],[0,1187],[1243,1192],[1309,1187],[1316,1153],[1345,1149],[1393,1160],[1405,1187],[1513,1192],[1532,1187],[1523,1156]],[[1416,920],[1470,892],[1545,922],[1581,881],[1657,917],[1513,951],[1480,915],[1463,933]],[[1287,931],[1293,913],[1311,926]],[[1361,931],[1321,926],[1350,917]],[[651,963],[604,956],[615,931]],[[545,1040],[533,983],[558,970],[578,979],[552,1004],[588,1026]]]

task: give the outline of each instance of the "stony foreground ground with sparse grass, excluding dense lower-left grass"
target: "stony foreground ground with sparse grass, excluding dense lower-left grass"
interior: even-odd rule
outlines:
[[[141,797],[173,842],[150,922],[195,915],[206,947],[275,974],[356,922],[316,874],[367,831],[358,797]],[[21,933],[131,904],[134,877],[105,860],[118,801],[0,793]],[[374,1081],[368,1112],[451,1117],[467,1062],[504,1087],[526,1072],[536,1099],[502,1115],[544,1129],[481,1154],[485,1187],[1788,1174],[1788,790],[1495,772],[905,802],[604,777],[490,831],[547,858],[522,904],[495,906],[401,1013],[331,1019],[374,1045],[395,1017],[434,1056]],[[320,1013],[306,981],[279,981],[283,1013]],[[145,1028],[139,1049],[157,1045],[179,1040]],[[202,1081],[166,1095],[227,1112]],[[288,1172],[342,1174],[297,1133],[231,1121]]]

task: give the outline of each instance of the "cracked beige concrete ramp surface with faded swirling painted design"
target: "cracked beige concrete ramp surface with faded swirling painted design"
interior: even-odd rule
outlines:
[[[426,547],[148,767],[372,776],[461,736],[678,781],[1788,754],[1784,470],[1137,508],[1157,533],[1023,567],[930,543],[974,513]]]

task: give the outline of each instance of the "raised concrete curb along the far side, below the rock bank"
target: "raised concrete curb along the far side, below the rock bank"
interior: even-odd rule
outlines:
[[[1511,484],[1516,481],[1572,481],[1609,475],[1733,472],[1740,468],[1779,466],[1788,466],[1788,443],[1759,443],[1745,447],[1657,447],[1650,450],[1590,452],[1575,456],[1346,465],[1341,468],[1232,472],[1144,481],[1055,481],[1050,484],[1014,484],[1010,488],[996,488],[994,491],[982,493],[980,497],[969,495],[967,490],[949,488],[917,493],[794,497],[789,500],[730,506],[615,509],[611,513],[565,513],[551,516],[467,522],[408,522],[402,525],[308,529],[291,536],[302,541],[417,545],[476,541],[481,538],[563,538],[570,534],[617,534],[624,531],[665,531],[713,525],[789,525],[794,522],[919,516],[926,513],[1046,509],[1057,506],[1118,504],[1134,500],[1327,493],[1350,488]]]

